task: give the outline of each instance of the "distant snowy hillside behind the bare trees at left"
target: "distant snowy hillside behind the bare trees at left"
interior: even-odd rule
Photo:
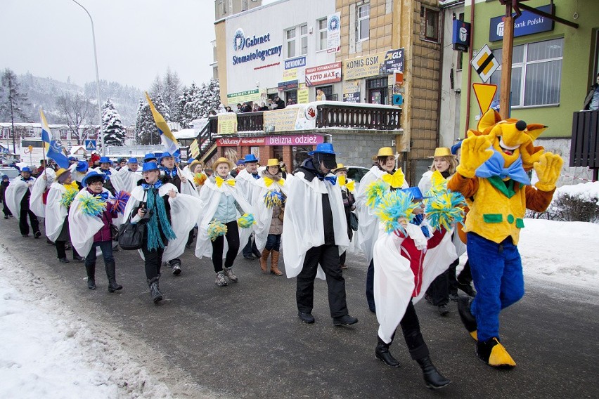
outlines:
[[[62,93],[82,93],[96,103],[96,82],[86,83],[84,87],[70,82],[58,81],[49,77],[35,77],[30,73],[18,77],[20,91],[27,93],[30,110],[27,115],[37,120],[39,107],[44,108],[44,114],[51,124],[65,123],[56,108],[56,100]],[[125,126],[135,124],[139,98],[143,95],[140,89],[123,86],[115,81],[100,81],[100,100],[102,103],[108,98],[115,104]]]

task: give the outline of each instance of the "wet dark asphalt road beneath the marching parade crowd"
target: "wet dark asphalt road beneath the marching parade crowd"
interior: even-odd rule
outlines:
[[[3,222],[0,242],[22,267],[98,326],[112,327],[115,335],[122,331],[152,348],[144,364],[148,369],[153,355],[162,356],[173,369],[166,372],[165,384],[185,378],[217,397],[231,398],[599,397],[598,292],[528,280],[524,299],[501,316],[503,344],[517,362],[509,371],[477,360],[456,303],[450,303],[446,317],[425,301],[418,303],[431,358],[453,380],[441,391],[430,391],[401,332],[392,345],[401,367],[375,360],[378,324],[366,306],[361,256],[348,256],[344,271],[349,313],[359,323],[333,327],[326,282],[317,280],[316,323],[306,325],[297,318],[295,280],[262,275],[258,260],[239,256],[234,270],[240,282],[217,287],[210,260],[198,260],[188,250],[181,257],[181,275],[163,268],[165,300],[155,305],[136,251],[115,254],[122,291],[108,293],[101,261],[98,289],[90,291],[83,263],[58,263],[54,247],[43,237],[22,238],[17,223]]]

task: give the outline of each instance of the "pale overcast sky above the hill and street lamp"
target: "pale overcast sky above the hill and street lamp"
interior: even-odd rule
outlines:
[[[214,0],[77,1],[94,19],[100,79],[149,89],[167,67],[186,86],[212,77]],[[0,0],[0,13],[1,69],[96,80],[91,23],[72,0]]]

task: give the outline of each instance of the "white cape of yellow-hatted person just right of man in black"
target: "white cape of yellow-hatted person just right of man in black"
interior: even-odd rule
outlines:
[[[356,244],[363,251],[368,263],[373,259],[373,250],[376,240],[380,235],[378,217],[375,215],[375,209],[366,205],[366,191],[368,185],[374,181],[382,179],[382,175],[387,172],[380,170],[378,166],[373,166],[370,171],[360,181],[358,194],[356,195],[356,212],[358,215],[358,231],[356,231]],[[408,183],[404,181],[401,188],[408,188]]]

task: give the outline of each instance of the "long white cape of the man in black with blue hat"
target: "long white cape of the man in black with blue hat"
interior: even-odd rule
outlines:
[[[328,194],[330,209],[333,214],[335,244],[342,254],[349,245],[347,237],[347,221],[343,208],[343,199],[339,185],[330,181],[314,178],[311,182],[304,178],[303,172],[297,172],[293,178],[285,181],[288,197],[283,218],[283,260],[288,278],[296,277],[302,271],[306,252],[312,247],[324,244],[323,202],[322,195]],[[325,280],[320,266],[316,277]]]

